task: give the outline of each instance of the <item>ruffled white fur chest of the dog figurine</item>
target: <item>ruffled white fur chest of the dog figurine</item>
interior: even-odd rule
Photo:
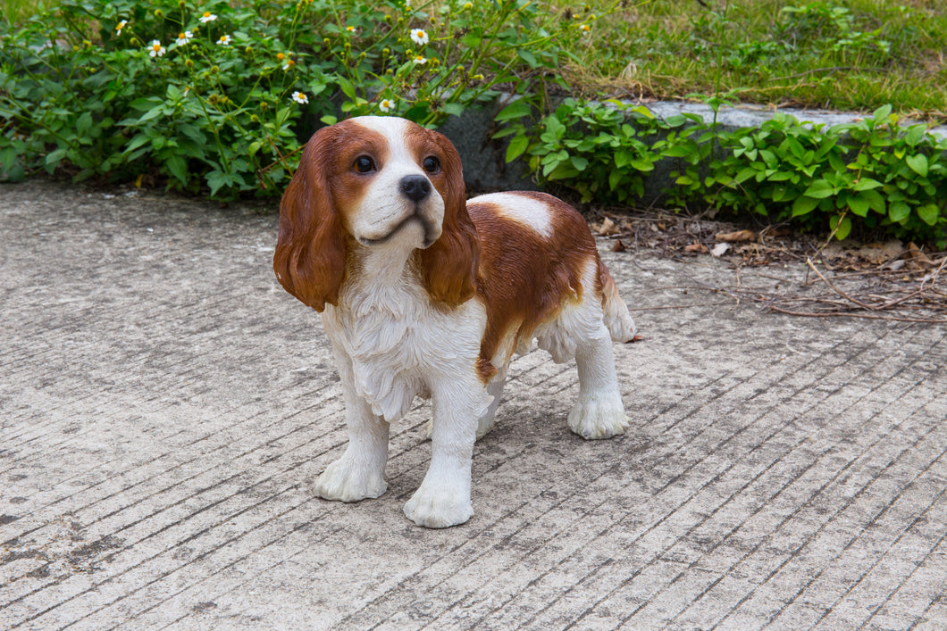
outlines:
[[[339,306],[327,306],[323,324],[350,361],[350,383],[372,412],[392,422],[427,397],[432,380],[473,370],[486,315],[474,300],[447,313],[403,273],[395,283],[353,283]]]

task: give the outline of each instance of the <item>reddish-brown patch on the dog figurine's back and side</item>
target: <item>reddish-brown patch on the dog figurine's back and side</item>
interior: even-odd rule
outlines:
[[[495,203],[467,205],[480,237],[477,294],[487,309],[487,329],[477,373],[485,382],[496,374],[491,359],[504,339],[512,335],[515,348],[556,317],[563,303],[580,300],[582,271],[599,258],[585,219],[572,206],[545,193],[515,194],[545,204],[551,237],[504,218]]]

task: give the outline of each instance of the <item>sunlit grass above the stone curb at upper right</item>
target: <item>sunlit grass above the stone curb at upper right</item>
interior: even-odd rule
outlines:
[[[625,1],[599,16],[566,72],[587,94],[861,112],[890,103],[942,122],[945,51],[943,0]]]

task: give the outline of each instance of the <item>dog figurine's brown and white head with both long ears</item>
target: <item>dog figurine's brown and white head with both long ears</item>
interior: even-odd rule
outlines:
[[[338,304],[351,247],[417,250],[438,304],[474,295],[479,247],[460,156],[447,138],[382,116],[313,135],[279,205],[274,271],[284,289],[322,311]]]

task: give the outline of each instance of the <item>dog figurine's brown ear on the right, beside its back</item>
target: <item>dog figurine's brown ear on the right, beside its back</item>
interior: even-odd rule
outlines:
[[[438,192],[444,199],[444,223],[440,238],[420,252],[421,274],[431,297],[448,307],[456,307],[474,296],[476,270],[480,262],[480,241],[474,221],[467,214],[467,190],[463,167],[454,145],[437,131],[435,137],[444,153],[444,183]]]

